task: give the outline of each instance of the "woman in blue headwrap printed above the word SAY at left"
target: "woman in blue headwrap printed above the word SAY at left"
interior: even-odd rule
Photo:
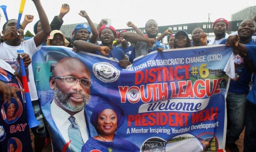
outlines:
[[[19,117],[15,116],[16,112],[19,109],[19,104],[13,97],[11,98],[10,103],[5,103],[4,111],[6,113],[5,121],[16,121]]]

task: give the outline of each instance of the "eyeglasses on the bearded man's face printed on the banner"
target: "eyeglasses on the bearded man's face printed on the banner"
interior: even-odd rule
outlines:
[[[53,77],[55,80],[56,79],[64,79],[64,83],[69,85],[69,86],[74,86],[76,83],[77,83],[77,80],[80,80],[80,84],[81,86],[83,87],[86,87],[86,88],[89,88],[91,87],[91,80],[87,80],[87,79],[77,79],[76,77],[74,76],[55,76]]]

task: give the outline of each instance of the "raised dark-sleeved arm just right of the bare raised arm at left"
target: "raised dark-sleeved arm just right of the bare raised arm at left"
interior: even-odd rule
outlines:
[[[61,10],[58,16],[54,16],[53,20],[51,21],[51,30],[59,30],[61,25],[63,24],[63,17],[69,12],[69,4],[62,4]]]

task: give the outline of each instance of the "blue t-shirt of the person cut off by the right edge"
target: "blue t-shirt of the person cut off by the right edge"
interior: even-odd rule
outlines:
[[[248,58],[253,61],[254,67],[256,67],[256,45],[246,45]],[[254,82],[256,77],[254,78]],[[249,101],[256,104],[256,84],[253,84],[252,89],[246,97]]]

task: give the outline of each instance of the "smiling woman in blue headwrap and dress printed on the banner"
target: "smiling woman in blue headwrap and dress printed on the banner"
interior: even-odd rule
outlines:
[[[132,142],[122,139],[115,131],[124,123],[124,112],[115,103],[98,103],[91,115],[91,123],[98,136],[91,137],[82,147],[82,152],[100,150],[101,152],[140,152]]]

